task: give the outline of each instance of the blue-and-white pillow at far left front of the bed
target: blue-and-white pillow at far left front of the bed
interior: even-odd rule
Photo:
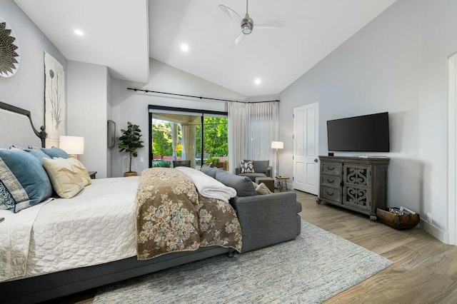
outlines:
[[[22,150],[0,150],[0,180],[14,199],[16,213],[49,198],[52,186],[38,159]]]

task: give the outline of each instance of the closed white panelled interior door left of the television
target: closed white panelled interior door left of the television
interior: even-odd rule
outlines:
[[[293,188],[314,195],[319,188],[319,103],[293,108]]]

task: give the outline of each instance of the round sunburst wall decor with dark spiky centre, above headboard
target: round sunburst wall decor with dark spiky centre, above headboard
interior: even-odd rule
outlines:
[[[19,42],[11,26],[0,18],[0,77],[11,77],[19,69]]]

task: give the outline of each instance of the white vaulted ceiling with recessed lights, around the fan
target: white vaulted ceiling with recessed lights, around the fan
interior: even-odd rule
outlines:
[[[116,78],[146,83],[151,57],[261,96],[283,91],[396,0],[251,0],[254,24],[281,20],[287,26],[254,26],[236,47],[241,27],[219,4],[243,18],[243,0],[15,1],[69,60],[102,64]]]

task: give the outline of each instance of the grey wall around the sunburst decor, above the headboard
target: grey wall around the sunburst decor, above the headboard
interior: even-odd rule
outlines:
[[[0,1],[0,16],[19,41],[21,63],[14,76],[0,77],[0,101],[31,111],[35,127],[44,125],[44,51],[64,69],[66,58],[12,0]]]

